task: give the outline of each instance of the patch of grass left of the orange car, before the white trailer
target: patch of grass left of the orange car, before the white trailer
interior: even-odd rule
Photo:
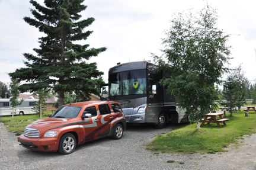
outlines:
[[[48,117],[47,114],[52,114],[52,112],[44,111],[42,118]],[[25,127],[37,119],[39,119],[39,116],[36,114],[27,114],[24,116],[17,115],[14,116],[13,119],[12,116],[0,117],[0,121],[4,123],[4,125],[7,127],[7,130],[9,132],[16,133],[16,135],[23,134]]]

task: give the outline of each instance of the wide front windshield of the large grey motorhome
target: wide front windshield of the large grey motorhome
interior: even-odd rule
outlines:
[[[146,70],[129,70],[109,75],[109,95],[146,94]]]

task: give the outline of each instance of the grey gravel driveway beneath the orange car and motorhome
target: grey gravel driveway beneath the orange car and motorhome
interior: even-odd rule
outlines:
[[[256,169],[256,134],[244,137],[241,145],[229,146],[219,154],[153,153],[145,149],[157,134],[153,126],[128,126],[120,140],[110,137],[78,146],[70,155],[42,153],[18,145],[17,136],[0,123],[1,169]],[[167,161],[175,161],[167,163]]]

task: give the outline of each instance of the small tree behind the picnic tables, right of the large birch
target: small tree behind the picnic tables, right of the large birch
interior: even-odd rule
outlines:
[[[221,104],[229,108],[231,116],[233,108],[238,107],[241,110],[241,107],[246,103],[247,83],[248,80],[242,72],[241,65],[231,70],[228,78],[223,82],[223,97],[226,102],[222,102]]]

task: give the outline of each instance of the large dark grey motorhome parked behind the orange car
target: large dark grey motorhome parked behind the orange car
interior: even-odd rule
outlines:
[[[158,66],[148,61],[117,63],[108,71],[108,97],[102,100],[119,102],[127,123],[154,123],[158,128],[168,121],[181,123],[185,111],[159,84],[163,77]]]

